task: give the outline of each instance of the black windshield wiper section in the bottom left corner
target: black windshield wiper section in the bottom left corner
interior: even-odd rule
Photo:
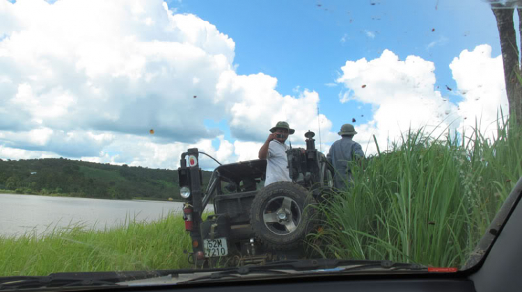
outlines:
[[[75,279],[74,277],[2,277],[0,278],[0,291],[13,289],[32,289],[32,288],[57,288],[57,287],[86,287],[86,286],[121,286],[115,282],[104,281],[101,279]]]

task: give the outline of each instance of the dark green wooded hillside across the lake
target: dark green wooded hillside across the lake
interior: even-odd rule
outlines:
[[[205,186],[211,173],[203,171]],[[0,159],[0,190],[104,199],[182,200],[177,170],[70,159]]]

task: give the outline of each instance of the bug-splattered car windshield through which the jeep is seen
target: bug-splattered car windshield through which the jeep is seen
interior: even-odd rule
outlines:
[[[522,176],[516,3],[0,0],[0,277],[463,267]]]

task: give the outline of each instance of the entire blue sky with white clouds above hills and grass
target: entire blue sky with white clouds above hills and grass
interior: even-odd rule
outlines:
[[[323,152],[352,123],[372,155],[408,129],[491,135],[500,110],[480,0],[0,0],[0,159],[231,163],[280,120]]]

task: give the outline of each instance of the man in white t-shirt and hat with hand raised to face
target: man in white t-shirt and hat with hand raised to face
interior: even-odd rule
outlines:
[[[270,135],[259,149],[259,159],[267,159],[267,175],[264,179],[264,186],[273,184],[277,181],[292,181],[288,173],[288,159],[285,144],[289,135],[294,133],[287,122],[278,122],[275,127],[270,129]]]

